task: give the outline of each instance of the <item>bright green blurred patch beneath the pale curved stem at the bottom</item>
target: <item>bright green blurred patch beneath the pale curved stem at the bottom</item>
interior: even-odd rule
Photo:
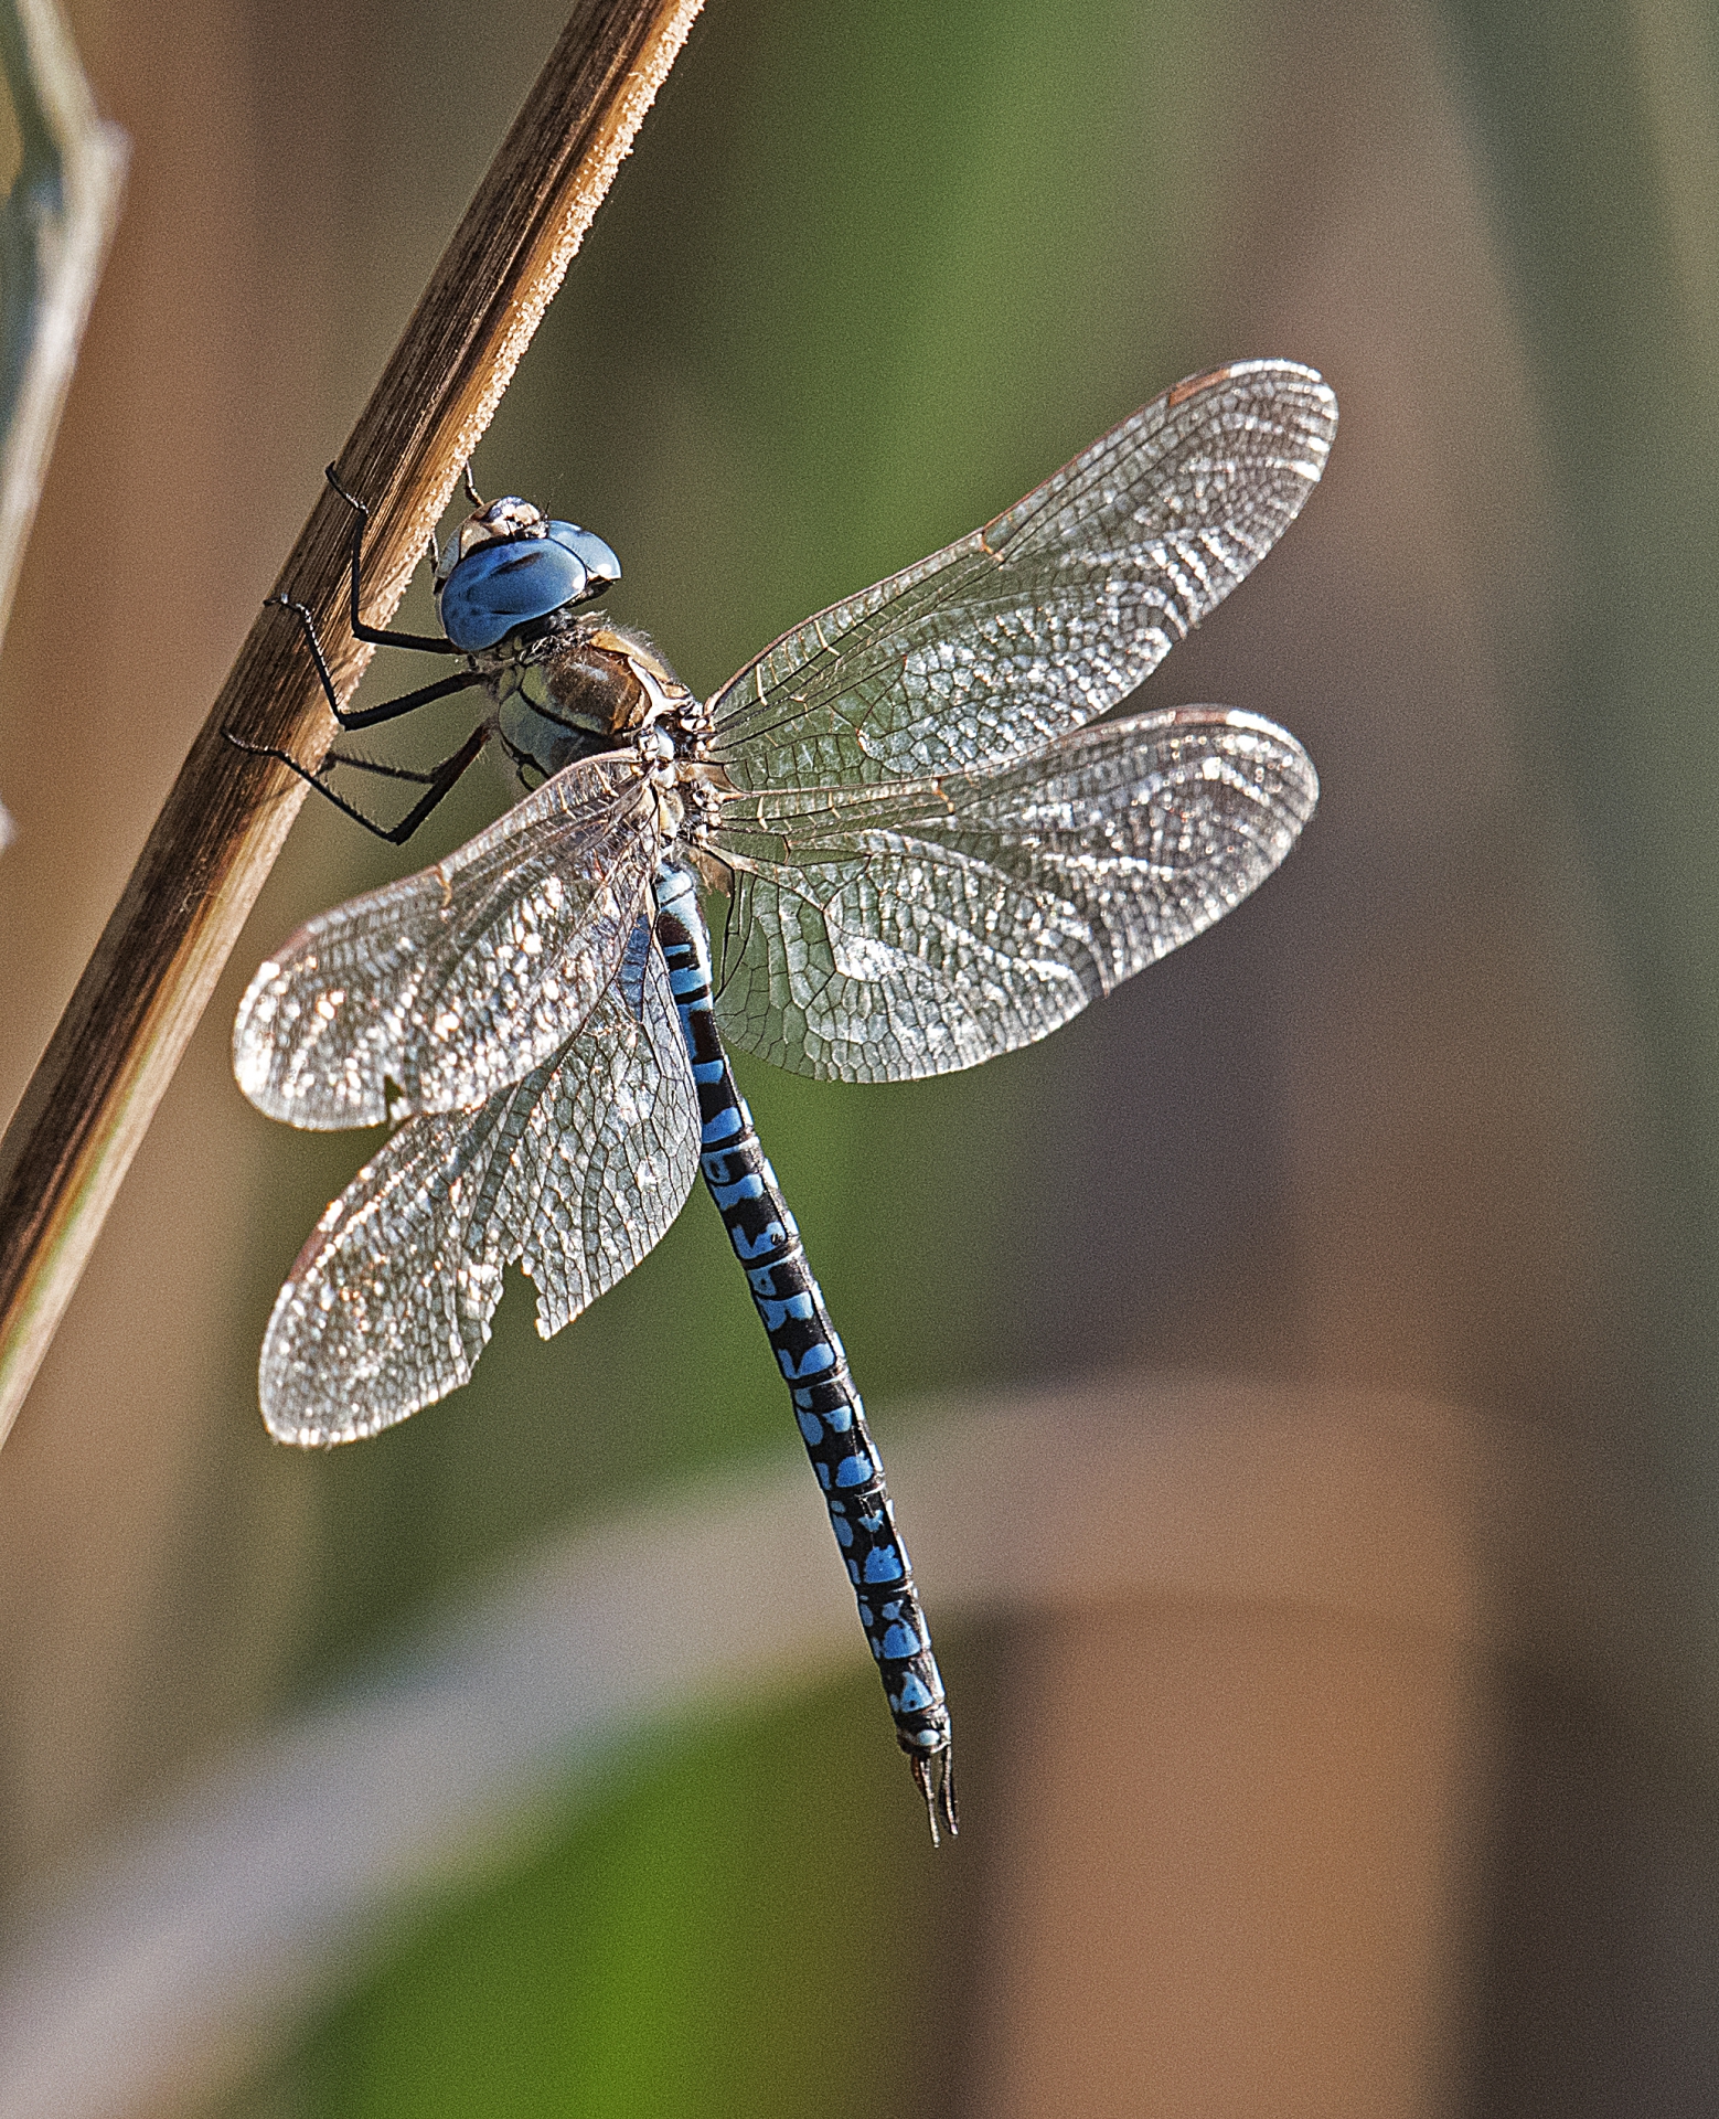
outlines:
[[[816,2083],[820,2115],[863,2119],[880,2047],[901,2055],[890,2077],[911,2055],[911,2104],[947,2108],[967,2024],[939,1958],[962,1894],[894,1829],[899,1761],[871,1744],[867,1678],[638,1759],[547,1858],[326,2024],[303,2060],[312,2108],[706,2119],[801,2113]]]

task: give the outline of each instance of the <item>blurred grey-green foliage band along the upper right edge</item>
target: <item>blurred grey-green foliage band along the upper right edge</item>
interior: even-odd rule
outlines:
[[[1581,812],[1651,1070],[1638,1390],[1719,1517],[1719,23],[1452,4],[1537,381],[1569,615],[1537,733]]]

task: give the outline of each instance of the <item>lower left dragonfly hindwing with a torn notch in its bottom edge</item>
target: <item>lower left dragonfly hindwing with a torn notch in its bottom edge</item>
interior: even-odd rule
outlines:
[[[409,1119],[305,1244],[261,1394],[288,1443],[375,1435],[471,1379],[515,1259],[547,1339],[651,1250],[697,1170],[697,1098],[661,954],[526,1081]]]

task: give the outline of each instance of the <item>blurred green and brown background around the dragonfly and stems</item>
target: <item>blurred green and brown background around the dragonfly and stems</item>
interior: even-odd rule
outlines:
[[[0,667],[8,1093],[560,30],[553,0],[72,19],[136,163]],[[1426,2051],[1335,2100],[1094,2064],[1064,2113],[1719,2104],[1717,348],[1711,8],[710,0],[479,451],[485,494],[615,545],[617,617],[708,689],[1181,375],[1284,354],[1337,390],[1306,517],[1145,693],[1308,744],[1284,873],[975,1074],[744,1068],[886,1447],[947,1392],[1191,1373],[1414,1394],[1588,1496],[1560,1551],[1600,1617],[1473,1657]],[[498,801],[462,790],[426,858]],[[297,920],[388,873],[303,814],[0,1458],[17,1907],[543,1536],[797,1454],[702,1201],[547,1348],[513,1288],[405,1428],[267,1445],[267,1305],[365,1146],[248,1112],[227,1028]],[[210,2108],[1045,2108],[1007,2058],[1024,1723],[1140,1706],[1034,1691],[1053,1634],[939,1636],[954,1850],[856,1653],[642,1735]],[[1304,1894],[1316,1952],[1312,1858]],[[1200,1994],[1246,2043],[1251,1994]],[[1153,2049],[1142,2011],[1119,2047]]]

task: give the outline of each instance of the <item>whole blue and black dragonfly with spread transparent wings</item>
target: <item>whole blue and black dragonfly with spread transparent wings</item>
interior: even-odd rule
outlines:
[[[699,701],[593,604],[608,545],[473,494],[435,564],[458,659],[343,729],[477,689],[432,771],[288,765],[403,843],[490,748],[507,814],[322,913],[252,979],[244,1093],[299,1127],[392,1123],[280,1290],[269,1430],[375,1435],[464,1384],[504,1271],[549,1337],[716,1204],[805,1441],[933,1839],[956,1831],[952,1723],[882,1460],[799,1229],[729,1068],[911,1081],[1047,1036],[1238,905],[1318,799],[1257,714],[1113,716],[1301,511],[1335,434],[1321,377],[1231,362],[1176,384],[971,536],[795,625]],[[333,470],[331,470],[333,479]],[[235,737],[237,742],[237,737]],[[259,746],[242,746],[259,748]],[[331,763],[422,784],[382,826]],[[721,907],[706,926],[704,907]],[[712,949],[710,934],[719,934]]]

